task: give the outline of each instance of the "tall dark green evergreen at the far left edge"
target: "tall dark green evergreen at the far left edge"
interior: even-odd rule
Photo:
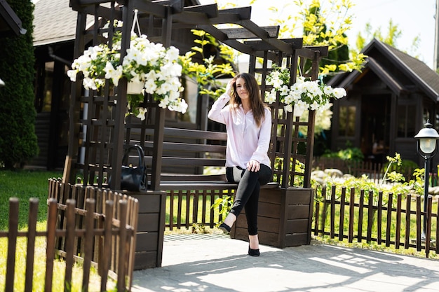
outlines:
[[[34,130],[34,4],[8,0],[27,33],[6,37],[0,46],[0,163],[6,168],[22,166],[38,153]]]

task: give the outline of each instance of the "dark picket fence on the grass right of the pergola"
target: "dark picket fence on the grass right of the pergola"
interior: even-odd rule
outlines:
[[[439,202],[433,201],[431,195],[426,212],[424,196],[420,195],[384,195],[364,190],[358,193],[354,188],[347,192],[346,187],[332,186],[330,192],[323,188],[322,197],[315,202],[314,235],[329,235],[339,241],[376,242],[396,249],[414,248],[424,250],[426,257],[431,251],[439,254],[435,244],[439,238]]]

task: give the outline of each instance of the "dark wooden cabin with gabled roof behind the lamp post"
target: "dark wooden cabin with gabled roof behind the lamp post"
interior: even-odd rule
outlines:
[[[375,162],[400,153],[403,160],[423,165],[414,135],[427,120],[439,130],[439,74],[377,39],[363,53],[368,57],[362,71],[328,82],[347,92],[346,98],[334,102],[331,150],[346,148],[347,143]],[[372,148],[380,141],[384,151],[377,158]]]

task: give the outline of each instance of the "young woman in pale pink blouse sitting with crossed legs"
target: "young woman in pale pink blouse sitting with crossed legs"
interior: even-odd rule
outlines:
[[[229,103],[228,105],[226,105]],[[208,118],[226,125],[227,181],[238,183],[234,204],[219,228],[230,232],[245,208],[248,222],[248,254],[259,256],[257,205],[261,185],[271,180],[267,155],[271,136],[271,111],[262,100],[254,76],[239,74],[227,85],[224,95],[212,105]]]

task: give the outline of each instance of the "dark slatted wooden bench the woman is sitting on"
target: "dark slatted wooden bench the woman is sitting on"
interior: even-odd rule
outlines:
[[[154,131],[147,131],[147,137]],[[163,130],[163,154],[161,155],[160,185],[157,190],[227,190],[236,189],[237,183],[229,183],[225,175],[227,133],[165,127]],[[142,144],[131,140],[131,144]],[[154,141],[144,141],[145,162],[149,178],[154,176]],[[130,156],[135,165],[137,158]],[[277,188],[270,182],[262,188]],[[151,184],[149,185],[151,189]],[[154,188],[153,188],[154,189]]]

